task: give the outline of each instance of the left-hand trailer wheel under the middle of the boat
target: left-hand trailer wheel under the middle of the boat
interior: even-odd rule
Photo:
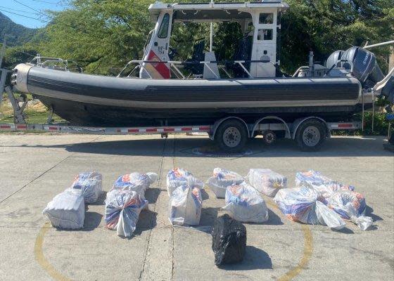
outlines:
[[[222,150],[238,152],[248,141],[248,131],[240,121],[229,119],[217,128],[215,141]]]

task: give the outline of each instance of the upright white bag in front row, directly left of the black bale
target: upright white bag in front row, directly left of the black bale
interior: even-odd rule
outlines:
[[[170,222],[174,226],[198,226],[203,200],[201,189],[189,185],[179,186],[170,198]]]

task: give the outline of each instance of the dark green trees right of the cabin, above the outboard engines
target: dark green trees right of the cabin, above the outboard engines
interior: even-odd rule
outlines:
[[[394,0],[288,0],[282,22],[282,60],[292,72],[307,52],[324,60],[333,51],[393,39]],[[387,65],[388,48],[374,49]]]

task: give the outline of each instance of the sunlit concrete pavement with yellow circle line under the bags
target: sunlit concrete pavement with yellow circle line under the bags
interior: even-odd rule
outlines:
[[[216,155],[201,136],[77,136],[0,134],[0,280],[393,280],[394,155],[383,138],[333,138],[322,152],[299,152],[292,142],[264,148],[255,139],[247,155]],[[208,154],[208,157],[206,156]],[[213,155],[212,155],[213,154]],[[172,228],[167,219],[165,175],[182,166],[206,180],[217,166],[246,175],[269,168],[288,176],[315,169],[364,193],[374,218],[362,232],[303,226],[265,197],[270,219],[246,225],[246,260],[218,269],[207,233]],[[90,205],[85,228],[59,231],[42,209],[82,171],[103,174],[109,190],[117,176],[153,171],[150,211],[141,213],[136,236],[103,228],[104,206]],[[211,226],[224,200],[204,192],[202,226]]]

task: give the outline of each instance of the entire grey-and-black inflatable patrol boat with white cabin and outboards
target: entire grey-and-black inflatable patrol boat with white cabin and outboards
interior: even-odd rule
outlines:
[[[373,53],[353,47],[337,51],[326,65],[300,67],[293,77],[279,71],[278,18],[281,1],[237,4],[163,4],[149,8],[157,20],[132,72],[118,77],[56,70],[45,60],[15,67],[13,84],[51,108],[56,115],[81,126],[176,126],[210,124],[227,116],[250,122],[274,115],[288,122],[304,116],[345,120],[374,98],[370,89],[383,79]],[[245,37],[233,60],[219,61],[212,51],[192,59],[172,60],[170,34],[174,22],[236,21]],[[247,44],[248,42],[248,44]],[[175,51],[176,52],[176,51]],[[226,70],[229,66],[231,71]],[[66,69],[67,70],[67,69]],[[138,70],[138,77],[132,73]],[[191,74],[186,77],[186,70]],[[126,73],[126,75],[125,75]],[[223,77],[223,76],[226,77]],[[387,86],[386,86],[387,87]],[[392,89],[386,89],[386,92]]]

